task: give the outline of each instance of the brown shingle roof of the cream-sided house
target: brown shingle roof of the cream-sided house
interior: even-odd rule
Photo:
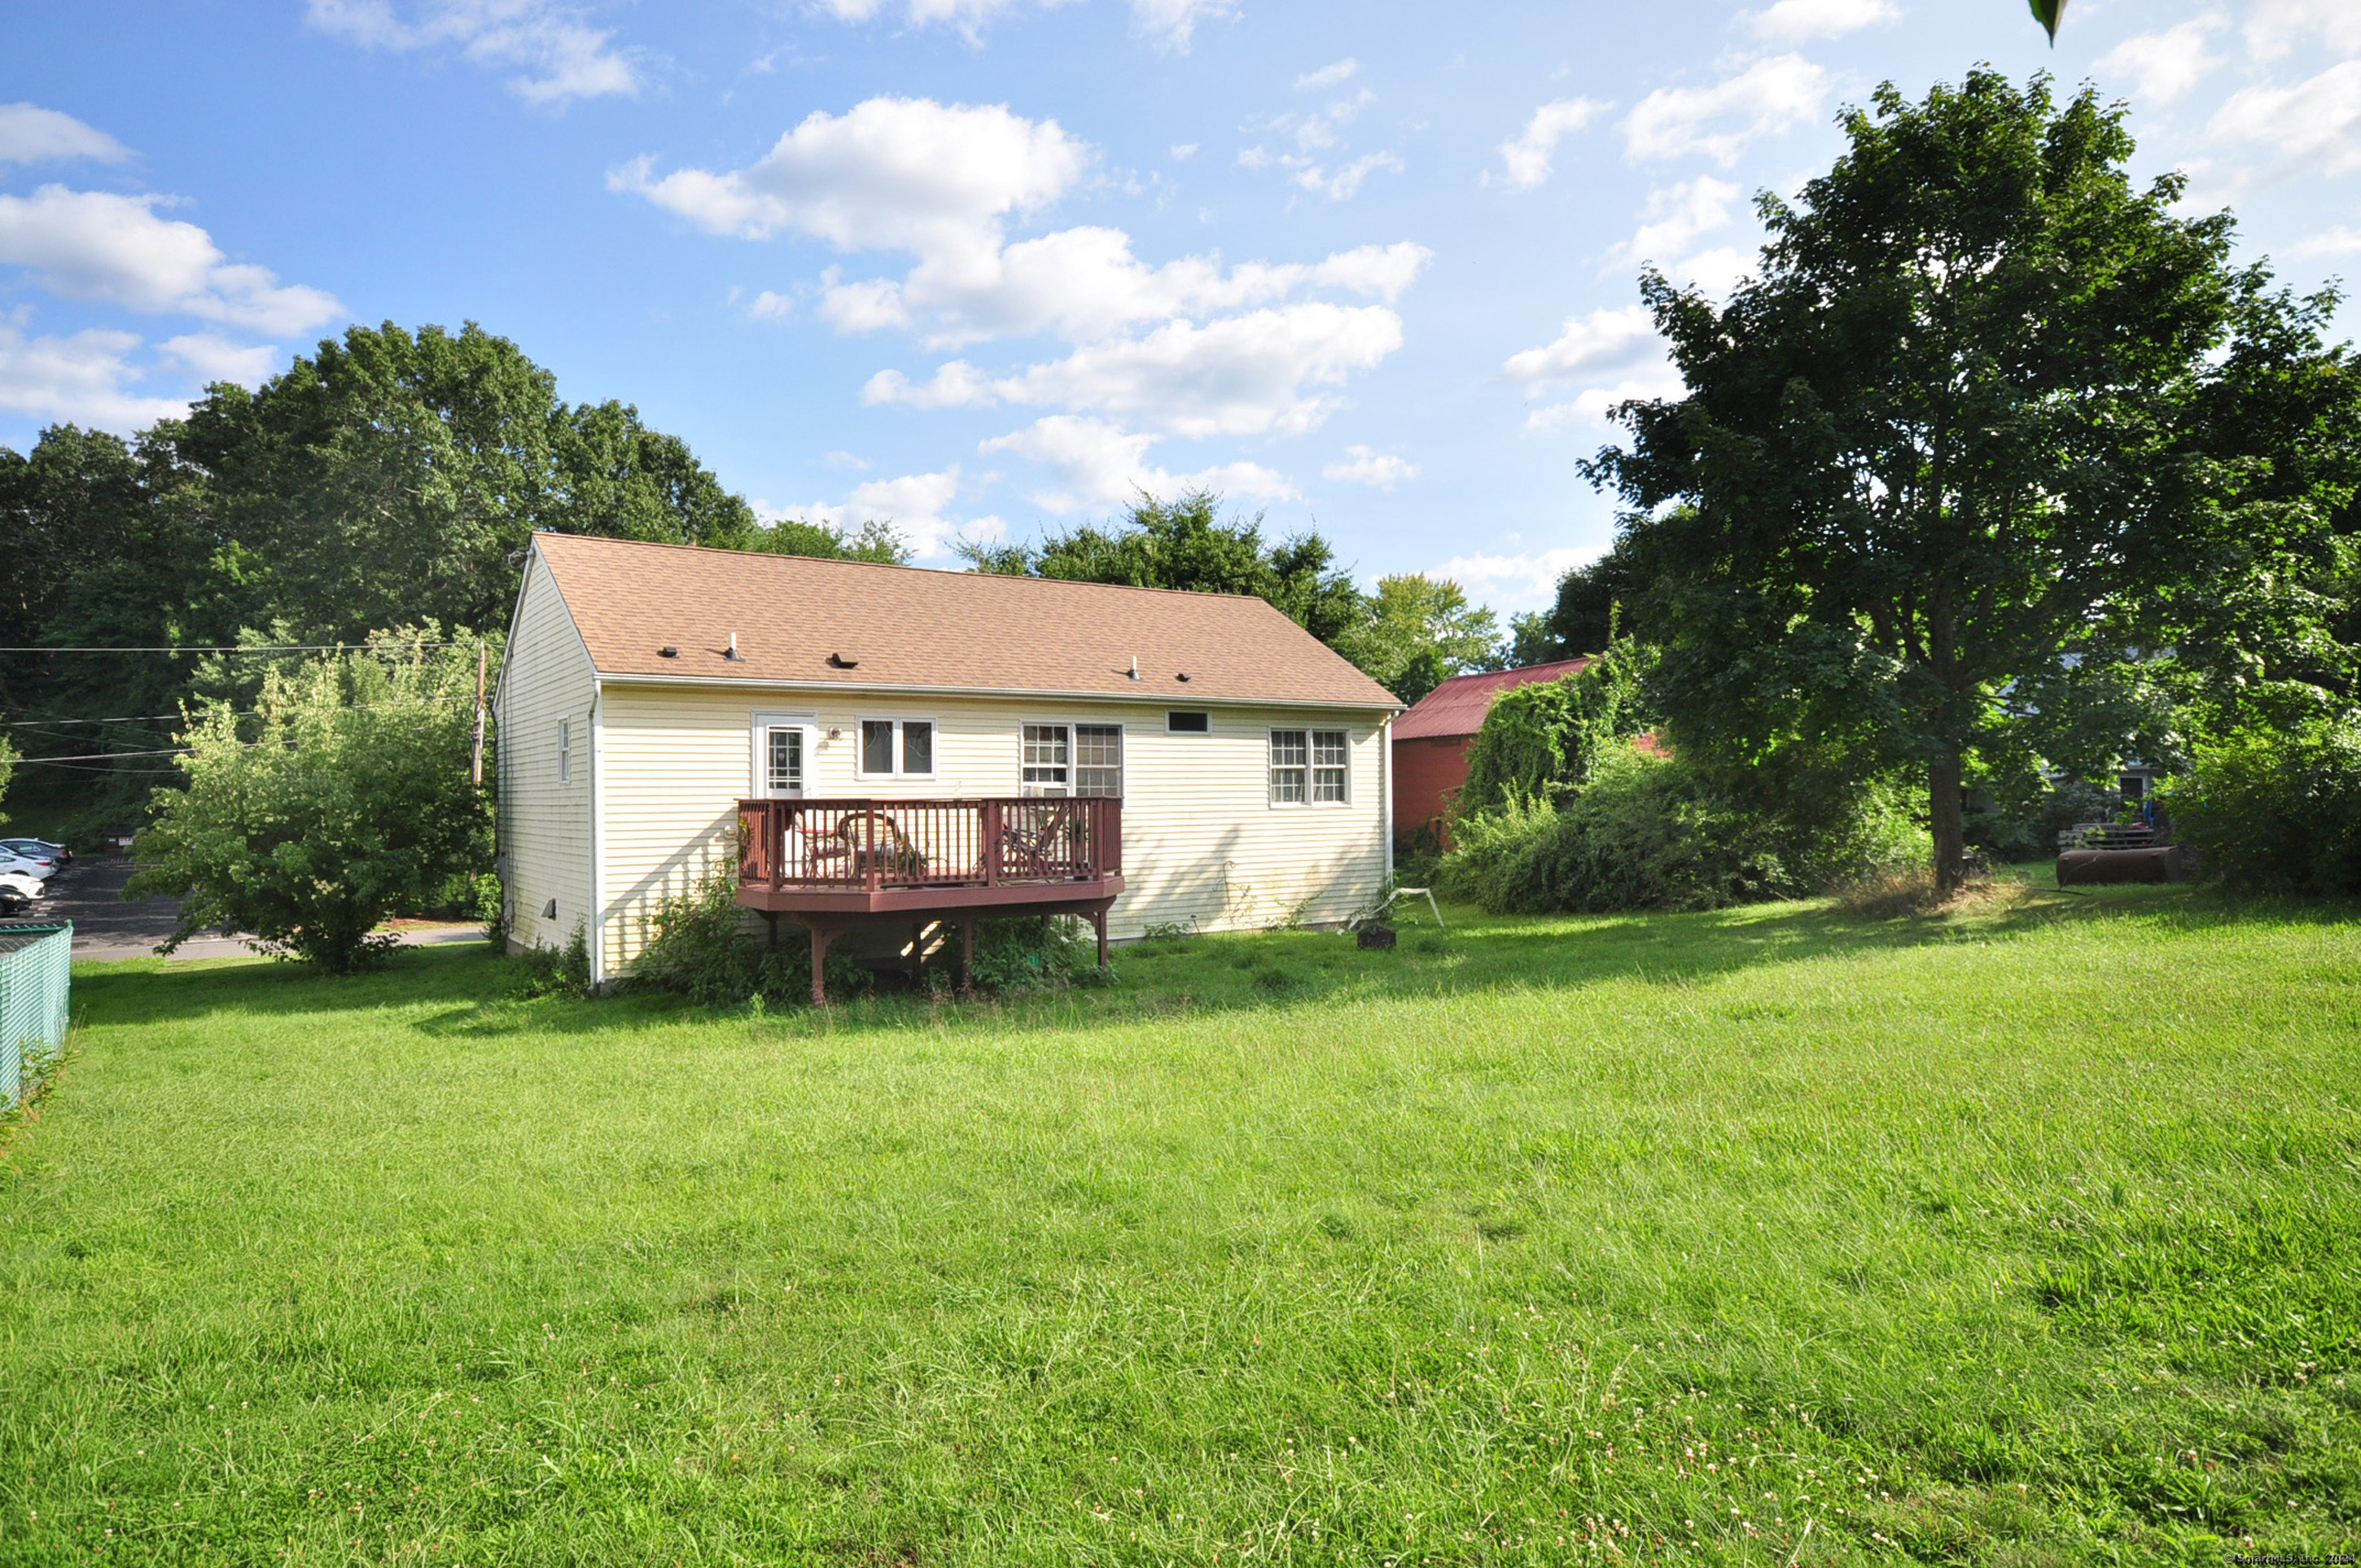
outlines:
[[[534,548],[602,675],[1400,706],[1308,631],[1242,595],[583,534],[534,534]],[[730,633],[737,661],[725,656]],[[680,654],[666,659],[661,647]],[[1129,678],[1133,659],[1138,680]]]

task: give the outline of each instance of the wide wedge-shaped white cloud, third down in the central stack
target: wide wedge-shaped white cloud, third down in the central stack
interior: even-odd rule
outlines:
[[[1197,326],[1166,321],[1091,342],[1065,359],[987,375],[963,359],[911,383],[878,371],[866,404],[982,409],[994,404],[1126,413],[1185,437],[1303,432],[1327,418],[1334,387],[1402,347],[1402,319],[1379,305],[1303,302]]]

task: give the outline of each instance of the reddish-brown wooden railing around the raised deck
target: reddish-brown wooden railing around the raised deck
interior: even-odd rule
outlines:
[[[1121,869],[1114,798],[739,801],[739,886],[992,888]]]

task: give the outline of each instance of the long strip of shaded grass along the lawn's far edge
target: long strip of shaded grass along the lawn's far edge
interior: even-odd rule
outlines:
[[[2342,926],[2352,904],[2226,902],[2191,888],[2033,888],[1969,916],[1868,916],[1825,902],[1702,914],[1480,916],[1405,926],[1393,952],[1362,952],[1336,933],[1280,930],[1136,942],[1117,949],[1117,982],[1074,992],[949,1004],[926,992],[848,999],[826,1013],[774,1006],[770,1032],[819,1034],[907,1027],[1093,1027],[1176,1013],[1268,1011],[1322,1001],[1381,1001],[1504,989],[1582,989],[1620,980],[1695,985],[1738,971],[1823,956],[2009,940],[2045,926],[2139,916],[2182,930],[2255,919]],[[401,1011],[437,1037],[593,1034],[748,1020],[751,1008],[699,1008],[675,997],[524,997],[522,973],[482,947],[411,947],[364,975],[295,963],[139,963],[76,973],[85,1023],[163,1023],[205,1015]]]

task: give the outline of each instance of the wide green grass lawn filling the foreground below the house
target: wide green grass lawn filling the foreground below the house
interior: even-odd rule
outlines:
[[[2352,914],[1454,914],[767,1018],[83,966],[0,1563],[2352,1549]]]

